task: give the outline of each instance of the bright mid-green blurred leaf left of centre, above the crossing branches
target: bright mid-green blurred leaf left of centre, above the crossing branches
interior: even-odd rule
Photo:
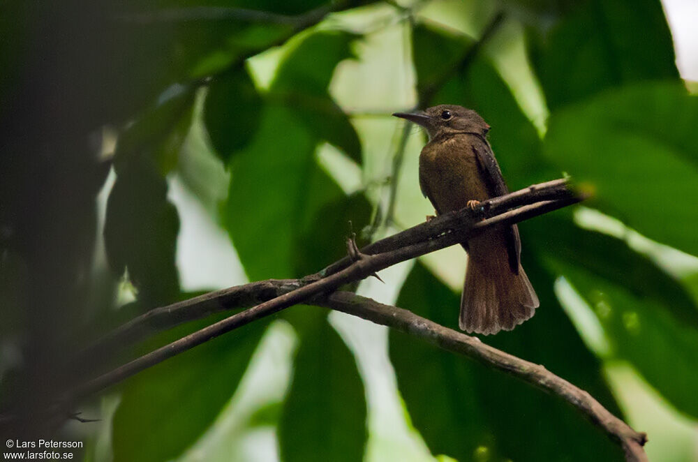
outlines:
[[[292,112],[266,107],[257,136],[232,158],[225,225],[251,280],[302,276],[295,273],[299,236],[343,195],[315,163],[315,142]]]

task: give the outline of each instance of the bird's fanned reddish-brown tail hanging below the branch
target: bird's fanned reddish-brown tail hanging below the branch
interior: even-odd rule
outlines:
[[[468,258],[459,318],[464,331],[485,335],[510,331],[531,318],[540,304],[521,264],[519,274],[514,274],[507,253],[497,255]]]

